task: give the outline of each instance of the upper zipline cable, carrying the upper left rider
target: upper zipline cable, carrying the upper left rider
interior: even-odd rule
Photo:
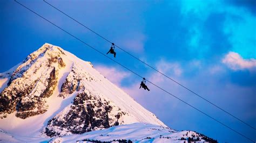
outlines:
[[[52,8],[55,8],[55,9],[56,9],[56,10],[58,10],[59,12],[63,13],[65,16],[67,16],[67,17],[71,18],[72,20],[74,20],[74,21],[75,21],[75,22],[77,22],[78,24],[82,25],[83,27],[87,28],[87,29],[88,29],[88,30],[90,30],[91,32],[95,33],[95,34],[96,34],[96,35],[98,35],[99,37],[103,38],[104,40],[106,40],[107,42],[110,42],[110,43],[112,44],[112,42],[111,42],[110,40],[107,40],[107,39],[106,39],[106,38],[104,38],[102,35],[100,35],[100,34],[98,34],[97,32],[95,32],[95,31],[91,30],[91,28],[89,28],[89,27],[85,26],[84,24],[82,24],[82,23],[78,22],[78,20],[76,20],[76,19],[72,18],[71,16],[67,15],[65,12],[63,12],[63,11],[59,10],[58,8],[56,8],[55,6],[53,6],[52,4],[50,4],[50,3],[46,2],[45,0],[43,0],[43,1],[44,1],[45,3],[47,3],[47,4],[49,4],[50,6],[52,6]],[[200,98],[204,99],[206,102],[208,102],[208,103],[212,104],[212,105],[213,105],[213,106],[215,106],[216,108],[218,108],[218,109],[220,109],[220,110],[224,111],[225,113],[227,113],[228,115],[232,116],[233,118],[235,118],[235,119],[237,119],[237,120],[241,121],[241,123],[244,123],[245,125],[247,125],[247,126],[249,126],[249,127],[253,128],[254,130],[256,130],[256,128],[255,128],[255,127],[251,126],[250,124],[247,124],[245,121],[243,121],[243,120],[239,119],[238,117],[235,117],[235,116],[234,116],[234,115],[232,115],[230,112],[228,112],[228,111],[226,111],[226,110],[224,110],[224,109],[220,108],[218,105],[216,105],[216,104],[212,103],[211,101],[208,101],[208,99],[204,98],[203,96],[200,96],[199,94],[197,94],[196,92],[192,91],[191,89],[188,89],[187,87],[185,87],[184,85],[180,84],[180,83],[179,83],[179,82],[177,82],[176,80],[173,80],[171,77],[169,77],[169,76],[165,75],[164,73],[161,73],[161,71],[159,71],[159,70],[157,70],[156,68],[154,68],[154,67],[150,66],[150,65],[149,65],[149,64],[147,64],[146,62],[144,62],[144,61],[140,60],[139,58],[137,58],[136,56],[132,55],[131,53],[129,53],[129,52],[127,52],[127,51],[125,51],[123,48],[121,48],[121,47],[119,47],[119,46],[117,46],[117,45],[116,45],[116,47],[118,47],[119,49],[121,49],[121,50],[122,50],[122,51],[124,51],[125,53],[129,54],[129,55],[130,55],[130,56],[132,56],[134,59],[137,59],[138,61],[140,61],[140,62],[144,63],[146,66],[150,67],[151,69],[153,69],[153,70],[157,71],[159,74],[161,74],[161,75],[163,75],[163,76],[165,76],[165,77],[169,78],[170,80],[172,80],[173,82],[177,83],[178,85],[180,85],[181,87],[185,88],[186,90],[188,90],[188,91],[192,92],[194,95],[197,95],[198,97],[200,97]]]

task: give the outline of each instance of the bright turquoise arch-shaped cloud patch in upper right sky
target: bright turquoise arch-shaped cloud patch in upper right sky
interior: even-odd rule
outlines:
[[[210,45],[207,42],[207,32],[203,33],[204,24],[212,14],[221,14],[224,19],[223,34],[230,42],[231,51],[239,53],[244,58],[256,58],[255,40],[256,28],[255,16],[244,6],[235,6],[228,4],[229,2],[219,0],[181,0],[181,14],[184,19],[193,17],[196,22],[191,23],[189,30],[189,38],[187,39],[188,50],[197,52],[198,55],[204,55],[208,51]],[[221,17],[222,17],[221,16]],[[211,17],[210,17],[211,18]],[[185,24],[187,24],[185,20]],[[211,40],[211,39],[210,39]],[[200,47],[198,49],[198,47]],[[242,47],[242,48],[241,48]],[[203,50],[203,51],[201,51]]]

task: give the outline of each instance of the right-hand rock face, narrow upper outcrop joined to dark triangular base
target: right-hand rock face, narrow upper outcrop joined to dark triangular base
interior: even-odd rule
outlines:
[[[99,95],[87,91],[85,82],[97,80],[85,71],[82,73],[80,71],[79,66],[73,65],[62,85],[59,96],[65,98],[73,93],[76,96],[71,106],[49,120],[45,129],[49,137],[82,134],[99,128],[109,128],[119,125],[118,119],[126,114],[111,101],[106,101]]]

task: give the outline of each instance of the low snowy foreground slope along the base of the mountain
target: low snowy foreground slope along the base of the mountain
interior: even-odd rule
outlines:
[[[28,137],[11,135],[0,131],[4,142],[24,142]],[[190,139],[188,139],[190,138]],[[215,142],[203,134],[193,131],[172,130],[169,127],[152,125],[146,123],[134,123],[128,125],[113,126],[104,130],[87,132],[84,134],[72,134],[57,138],[31,138],[32,142],[92,142],[92,141],[130,140],[132,142]]]

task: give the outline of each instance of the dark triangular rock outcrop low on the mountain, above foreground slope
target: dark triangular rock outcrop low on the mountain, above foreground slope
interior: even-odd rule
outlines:
[[[48,126],[46,127],[46,134],[50,137],[63,135],[56,132],[62,129],[72,134],[82,134],[96,130],[97,128],[109,128],[110,126],[118,125],[118,119],[109,118],[108,113],[111,110],[112,107],[106,101],[102,103],[97,98],[87,95],[85,92],[80,93],[73,100],[70,110],[65,112],[64,118],[56,116],[49,120]]]

